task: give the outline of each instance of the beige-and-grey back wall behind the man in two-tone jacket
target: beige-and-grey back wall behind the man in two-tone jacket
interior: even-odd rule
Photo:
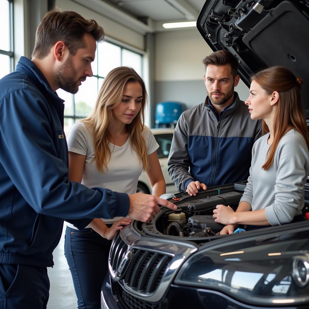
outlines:
[[[184,103],[191,108],[205,101],[202,60],[212,53],[197,29],[159,32],[155,35],[155,105],[163,101]],[[247,99],[248,87],[240,81],[235,88]],[[152,122],[154,125],[154,122]]]

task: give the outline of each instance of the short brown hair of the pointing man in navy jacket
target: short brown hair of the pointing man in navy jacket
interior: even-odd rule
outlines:
[[[32,57],[43,59],[58,41],[63,41],[70,54],[74,55],[79,48],[84,47],[85,33],[91,34],[96,41],[104,40],[104,30],[94,19],[84,19],[73,11],[49,11],[36,29]]]

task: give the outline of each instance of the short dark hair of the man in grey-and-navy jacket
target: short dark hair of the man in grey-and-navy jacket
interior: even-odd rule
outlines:
[[[226,50],[217,50],[203,59],[205,70],[209,64],[214,66],[224,66],[225,64],[231,65],[231,74],[235,78],[238,71],[238,60],[236,55],[231,54]]]

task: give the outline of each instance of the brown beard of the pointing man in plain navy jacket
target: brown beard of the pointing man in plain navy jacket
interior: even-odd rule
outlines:
[[[78,91],[79,79],[76,80],[77,73],[73,67],[71,56],[68,57],[63,66],[57,69],[55,76],[59,88],[72,94],[75,94]]]

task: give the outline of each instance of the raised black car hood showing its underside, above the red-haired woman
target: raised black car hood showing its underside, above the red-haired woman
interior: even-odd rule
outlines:
[[[290,69],[303,79],[302,103],[309,112],[309,1],[207,0],[197,28],[213,51],[236,54],[248,87],[258,70]]]

